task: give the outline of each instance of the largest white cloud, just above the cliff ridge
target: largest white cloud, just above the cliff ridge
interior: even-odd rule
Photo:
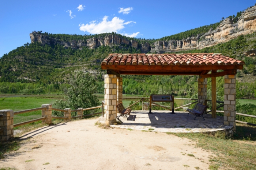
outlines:
[[[96,23],[96,21],[91,21],[89,24],[79,24],[79,29],[81,31],[87,31],[89,33],[106,33],[106,32],[118,32],[124,28],[124,25],[136,23],[134,21],[124,22],[124,20],[113,17],[111,21],[108,21],[108,16],[104,16],[102,21]]]

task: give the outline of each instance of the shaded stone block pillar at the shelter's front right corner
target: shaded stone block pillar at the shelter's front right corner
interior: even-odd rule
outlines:
[[[224,84],[224,124],[236,131],[236,75],[225,75]]]

